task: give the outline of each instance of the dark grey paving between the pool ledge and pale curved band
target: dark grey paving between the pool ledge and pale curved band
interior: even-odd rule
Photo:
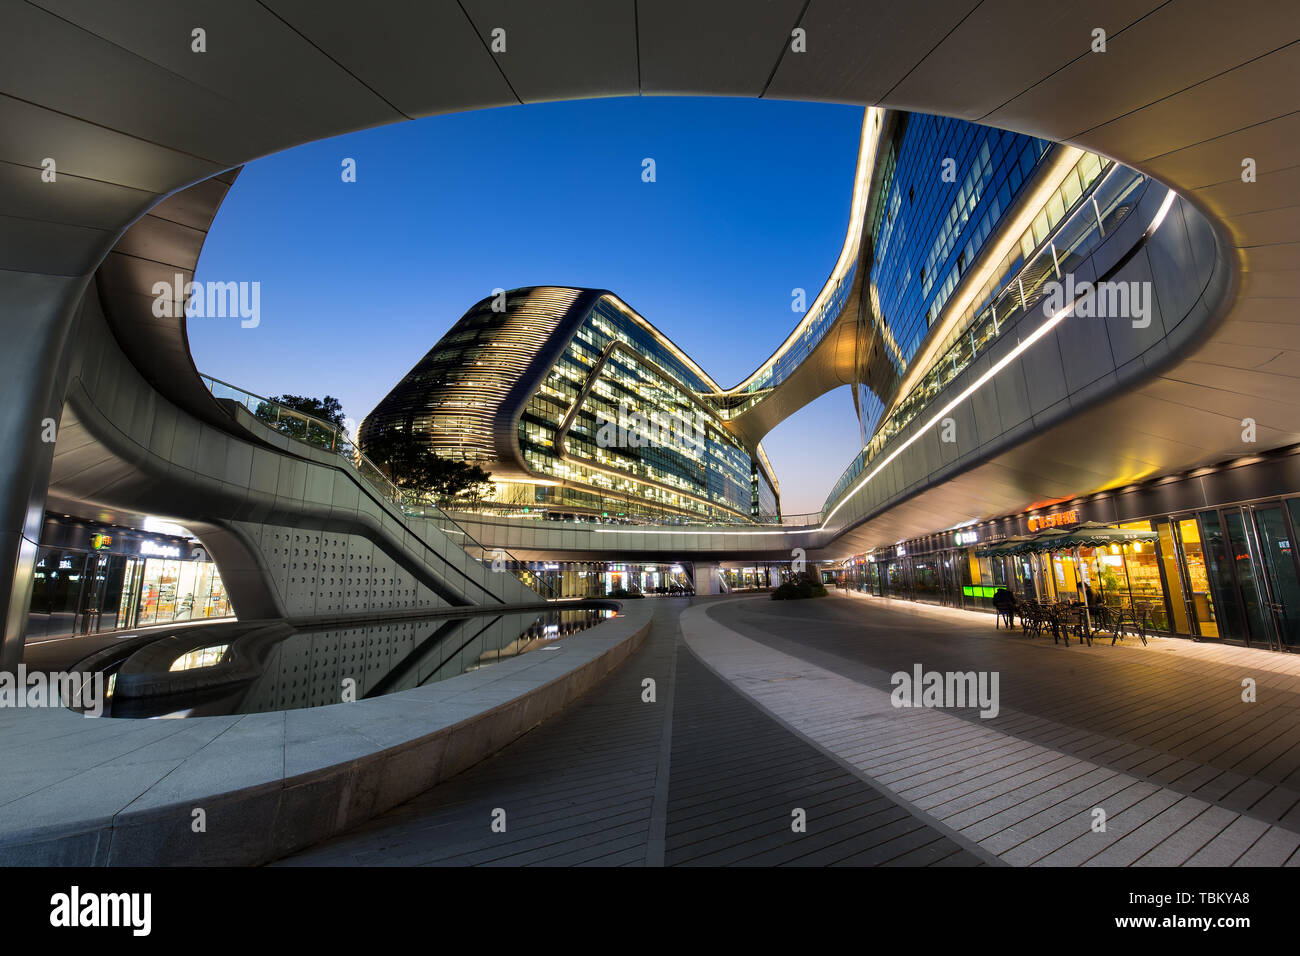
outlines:
[[[980,865],[703,666],[656,602],[650,640],[558,718],[287,865]],[[707,606],[707,601],[697,602]],[[645,702],[644,680],[655,680]],[[491,829],[504,810],[506,830]],[[802,810],[806,827],[796,832]]]

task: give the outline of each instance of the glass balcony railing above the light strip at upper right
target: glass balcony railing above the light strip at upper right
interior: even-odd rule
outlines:
[[[1037,246],[1026,265],[1005,285],[993,302],[971,320],[966,330],[949,346],[926,377],[907,393],[857,458],[849,463],[827,496],[823,511],[829,514],[848,488],[939,394],[975,359],[985,354],[998,337],[1039,307],[1048,295],[1046,285],[1056,282],[1083,261],[1136,207],[1145,191],[1147,177],[1115,164],[1100,178],[1097,186],[1083,195],[1074,212]]]

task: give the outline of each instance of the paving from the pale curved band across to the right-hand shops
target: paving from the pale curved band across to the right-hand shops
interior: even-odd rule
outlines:
[[[770,713],[1009,864],[1300,865],[1295,656],[1065,646],[857,596],[731,601],[684,628]],[[916,665],[997,671],[997,717],[894,708],[890,675]]]

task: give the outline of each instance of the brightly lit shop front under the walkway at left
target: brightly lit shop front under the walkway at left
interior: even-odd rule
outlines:
[[[217,566],[177,535],[47,515],[32,578],[29,640],[234,615]]]

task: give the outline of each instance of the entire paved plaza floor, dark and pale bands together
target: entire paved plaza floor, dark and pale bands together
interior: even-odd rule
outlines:
[[[893,708],[918,663],[997,671],[997,717]],[[656,600],[563,714],[282,862],[1300,865],[1297,705],[1295,656],[1066,648],[858,596]]]

